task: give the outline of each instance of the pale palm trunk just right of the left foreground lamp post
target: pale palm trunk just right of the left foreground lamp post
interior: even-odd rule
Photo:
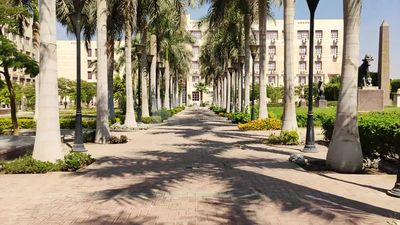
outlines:
[[[107,3],[97,0],[97,96],[95,142],[106,144],[110,139],[108,126],[108,82],[107,82]]]

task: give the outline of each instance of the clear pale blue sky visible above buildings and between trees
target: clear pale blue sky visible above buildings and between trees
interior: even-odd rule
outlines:
[[[192,19],[199,19],[207,14],[209,5],[188,9]],[[370,71],[378,70],[379,27],[383,20],[389,23],[390,32],[390,74],[400,78],[400,0],[363,0],[360,33],[360,64],[365,54],[374,58]],[[283,19],[283,7],[272,9],[275,19]],[[343,18],[342,0],[320,0],[316,19]],[[296,19],[308,19],[309,11],[306,0],[296,0]],[[58,39],[65,40],[65,28],[57,26]]]

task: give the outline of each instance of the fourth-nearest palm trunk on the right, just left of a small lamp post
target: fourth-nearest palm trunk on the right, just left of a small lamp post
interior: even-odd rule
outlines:
[[[244,108],[250,113],[250,28],[251,28],[251,17],[250,14],[244,15],[244,49],[245,49],[245,61],[244,61]]]

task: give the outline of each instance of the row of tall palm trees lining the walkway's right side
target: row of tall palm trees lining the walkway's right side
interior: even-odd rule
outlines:
[[[209,0],[208,2],[211,8],[205,22],[209,23],[210,28],[205,47],[202,49],[201,69],[206,81],[214,85],[216,92],[214,104],[226,108],[228,112],[231,109],[235,110],[231,100],[240,102],[239,105],[244,104],[244,107],[237,108],[240,111],[244,112],[250,108],[250,43],[254,41],[251,36],[251,24],[253,21],[259,24],[259,118],[261,119],[268,117],[266,21],[271,15],[269,11],[271,5],[283,3],[285,75],[282,131],[297,130],[293,58],[295,0]],[[362,169],[362,151],[357,127],[357,62],[361,3],[361,0],[343,0],[344,51],[341,89],[334,134],[327,156],[328,166],[339,172],[356,172]],[[243,56],[244,61],[240,62]],[[244,64],[243,77],[238,78],[237,73],[228,70],[234,62]],[[238,84],[239,87],[244,85],[242,95],[231,91],[241,90],[242,88],[235,88]]]

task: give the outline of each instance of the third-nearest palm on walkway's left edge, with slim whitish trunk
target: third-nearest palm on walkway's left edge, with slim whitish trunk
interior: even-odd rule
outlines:
[[[125,81],[126,81],[126,115],[125,126],[136,128],[135,110],[133,104],[133,84],[132,84],[132,26],[135,15],[135,3],[132,0],[123,0],[125,18]]]

